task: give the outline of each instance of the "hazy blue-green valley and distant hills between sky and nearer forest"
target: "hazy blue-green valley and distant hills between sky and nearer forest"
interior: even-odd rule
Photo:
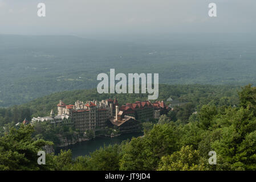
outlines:
[[[159,73],[165,84],[255,84],[251,35],[118,42],[76,36],[0,35],[0,106],[95,88],[99,73]]]

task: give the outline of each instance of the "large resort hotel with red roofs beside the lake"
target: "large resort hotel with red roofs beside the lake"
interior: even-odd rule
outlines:
[[[127,123],[131,121],[131,123],[135,123],[153,118],[159,119],[160,115],[169,111],[163,101],[157,101],[153,104],[150,101],[137,101],[119,107],[116,98],[115,100],[87,101],[85,103],[76,101],[75,105],[66,105],[60,100],[57,107],[58,115],[51,111],[50,116],[32,118],[31,122],[63,123],[74,126],[80,131],[96,131],[109,127],[109,123],[121,128],[121,125],[128,126]],[[131,126],[129,127],[131,128]]]

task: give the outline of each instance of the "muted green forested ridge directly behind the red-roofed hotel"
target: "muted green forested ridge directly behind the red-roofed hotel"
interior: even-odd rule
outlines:
[[[212,86],[212,85],[160,85],[158,100],[165,101],[169,104],[168,98],[173,100],[190,102],[190,110],[197,111],[204,104],[213,105],[238,105],[237,92],[239,86]],[[56,105],[59,100],[65,104],[74,104],[76,100],[105,100],[107,98],[117,98],[120,105],[127,102],[145,101],[148,99],[147,94],[99,94],[96,89],[92,90],[75,90],[50,94],[38,98],[27,104],[0,109],[0,126],[7,123],[22,122],[23,119],[31,117],[47,116],[51,109],[57,113]],[[152,101],[153,102],[153,101]]]

